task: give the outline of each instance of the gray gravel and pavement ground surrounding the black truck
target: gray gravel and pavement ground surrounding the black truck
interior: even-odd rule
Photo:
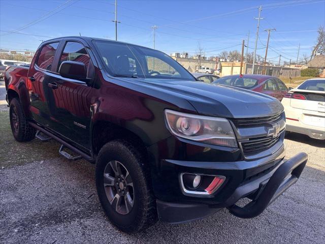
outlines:
[[[3,95],[0,81],[0,104]],[[324,243],[325,143],[293,133],[285,144],[287,157],[305,151],[309,161],[297,184],[261,216],[243,220],[224,209],[128,235],[101,209],[94,165],[59,157],[54,140],[16,142],[8,108],[0,105],[0,243]]]

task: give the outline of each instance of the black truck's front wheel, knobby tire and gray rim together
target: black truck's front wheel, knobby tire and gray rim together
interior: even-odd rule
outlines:
[[[124,232],[138,232],[157,221],[149,173],[142,154],[125,140],[108,142],[99,152],[98,196],[109,220]]]

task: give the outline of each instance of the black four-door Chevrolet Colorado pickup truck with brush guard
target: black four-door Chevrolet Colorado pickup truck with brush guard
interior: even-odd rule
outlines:
[[[256,217],[307,162],[305,153],[284,159],[277,99],[200,82],[150,48],[52,39],[29,68],[7,69],[5,85],[15,139],[53,138],[63,157],[95,163],[103,209],[125,232],[222,208]]]

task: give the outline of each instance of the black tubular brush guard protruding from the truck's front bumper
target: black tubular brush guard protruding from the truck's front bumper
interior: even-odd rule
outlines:
[[[294,185],[306,166],[308,156],[305,153],[290,158],[274,172],[256,200],[244,207],[232,205],[228,207],[231,214],[239,218],[249,219],[260,214],[290,186]]]

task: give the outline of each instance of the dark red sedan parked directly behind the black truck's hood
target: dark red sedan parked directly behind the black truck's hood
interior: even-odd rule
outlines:
[[[228,75],[221,77],[213,83],[254,90],[280,101],[288,92],[288,88],[282,80],[269,75]]]

